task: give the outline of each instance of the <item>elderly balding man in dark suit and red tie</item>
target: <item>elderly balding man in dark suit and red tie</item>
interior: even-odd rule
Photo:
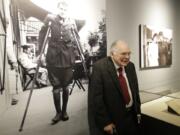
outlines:
[[[105,135],[138,133],[139,88],[130,54],[127,43],[118,40],[111,46],[110,57],[93,66],[88,93],[89,126],[93,135],[95,128]]]

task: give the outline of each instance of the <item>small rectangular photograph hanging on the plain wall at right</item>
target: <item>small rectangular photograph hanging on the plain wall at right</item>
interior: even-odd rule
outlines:
[[[140,25],[140,67],[161,68],[172,64],[172,29]]]

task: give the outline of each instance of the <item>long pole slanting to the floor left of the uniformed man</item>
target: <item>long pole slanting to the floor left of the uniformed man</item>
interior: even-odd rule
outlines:
[[[24,111],[24,115],[23,115],[23,119],[22,119],[20,128],[19,128],[20,132],[23,130],[24,121],[25,121],[25,118],[26,118],[29,103],[30,103],[31,96],[32,96],[32,93],[33,93],[33,89],[34,89],[34,84],[35,84],[36,78],[38,76],[38,70],[39,70],[39,67],[40,67],[41,57],[42,57],[42,54],[43,54],[43,52],[44,52],[44,50],[46,48],[46,45],[47,45],[47,41],[48,41],[47,39],[48,39],[48,36],[49,36],[49,33],[50,33],[50,26],[51,26],[51,22],[49,22],[49,24],[48,24],[48,29],[47,29],[47,32],[46,32],[46,35],[45,35],[45,38],[44,38],[44,42],[43,42],[43,45],[42,45],[42,49],[41,49],[41,52],[40,52],[40,55],[39,55],[39,59],[38,59],[38,62],[37,62],[37,68],[36,68],[36,72],[35,72],[35,75],[34,75],[34,78],[33,78],[32,87],[30,89],[27,105],[26,105],[26,108],[25,108],[25,111]]]

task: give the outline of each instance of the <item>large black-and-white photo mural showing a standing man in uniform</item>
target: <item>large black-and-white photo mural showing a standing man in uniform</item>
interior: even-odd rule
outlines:
[[[105,0],[0,3],[0,134],[89,134],[89,76],[107,55]]]

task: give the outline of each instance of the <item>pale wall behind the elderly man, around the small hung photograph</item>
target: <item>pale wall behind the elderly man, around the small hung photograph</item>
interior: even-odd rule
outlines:
[[[180,90],[180,29],[178,0],[107,0],[108,48],[116,39],[127,41],[132,50],[140,90]],[[168,68],[141,70],[139,67],[139,25],[173,29],[173,63]]]

